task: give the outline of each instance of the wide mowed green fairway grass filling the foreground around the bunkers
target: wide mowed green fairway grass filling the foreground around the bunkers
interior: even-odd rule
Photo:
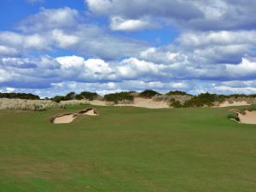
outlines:
[[[253,192],[256,125],[230,108],[96,107],[0,112],[1,192]]]

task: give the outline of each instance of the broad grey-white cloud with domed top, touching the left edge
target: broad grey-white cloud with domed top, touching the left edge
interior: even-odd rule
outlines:
[[[108,34],[100,26],[84,23],[80,17],[76,9],[67,7],[41,9],[38,14],[20,22],[20,32],[0,32],[0,54],[7,55],[7,50],[9,55],[24,55],[67,49],[113,60],[135,55],[148,46],[143,41]]]

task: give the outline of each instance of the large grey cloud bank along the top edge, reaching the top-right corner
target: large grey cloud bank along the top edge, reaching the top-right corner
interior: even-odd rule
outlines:
[[[96,15],[124,16],[138,19],[145,15],[164,20],[171,25],[194,30],[255,29],[255,1],[235,0],[86,0]],[[244,14],[246,13],[246,14]]]

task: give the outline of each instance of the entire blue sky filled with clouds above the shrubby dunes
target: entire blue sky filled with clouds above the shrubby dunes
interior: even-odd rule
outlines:
[[[256,93],[255,0],[0,0],[0,92]]]

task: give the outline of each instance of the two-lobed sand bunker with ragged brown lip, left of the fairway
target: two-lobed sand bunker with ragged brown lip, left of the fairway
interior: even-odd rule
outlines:
[[[79,112],[76,113],[63,113],[55,115],[50,119],[50,122],[53,124],[69,124],[73,122],[74,119],[76,119],[80,115],[98,115],[99,112],[95,108],[85,108]]]

